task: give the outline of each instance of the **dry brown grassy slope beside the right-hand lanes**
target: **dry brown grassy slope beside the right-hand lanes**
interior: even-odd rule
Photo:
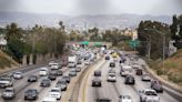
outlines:
[[[182,49],[164,61],[164,73],[162,62],[152,68],[158,75],[182,86]]]

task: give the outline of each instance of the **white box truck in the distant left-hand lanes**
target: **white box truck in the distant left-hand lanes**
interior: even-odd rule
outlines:
[[[75,68],[77,67],[77,61],[78,61],[77,55],[70,55],[68,58],[68,67],[69,68]]]

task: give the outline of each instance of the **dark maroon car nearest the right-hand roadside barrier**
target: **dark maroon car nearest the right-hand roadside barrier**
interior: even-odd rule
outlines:
[[[159,80],[151,81],[151,89],[162,93],[163,92],[162,82]]]

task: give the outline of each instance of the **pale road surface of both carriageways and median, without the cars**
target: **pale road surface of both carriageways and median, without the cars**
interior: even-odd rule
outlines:
[[[97,60],[90,65],[85,65],[84,61],[80,65],[82,71],[71,79],[71,82],[68,85],[68,90],[62,92],[61,100],[58,102],[95,102],[95,99],[107,98],[110,99],[111,102],[119,102],[119,96],[122,94],[128,94],[132,98],[133,102],[140,102],[139,90],[150,89],[150,82],[143,82],[140,75],[135,75],[135,70],[132,69],[132,75],[135,79],[135,84],[125,84],[124,76],[120,75],[120,63],[119,58],[115,62],[115,68],[110,68],[110,62],[113,62],[112,57],[110,55],[110,60],[105,60],[104,55],[102,59]],[[130,63],[130,59],[127,59],[125,63]],[[139,59],[138,63],[142,63],[143,60]],[[108,72],[109,70],[114,70],[117,72],[117,82],[108,82]],[[70,68],[63,67],[61,69],[64,75],[69,74]],[[92,86],[92,80],[94,79],[93,72],[95,70],[101,71],[101,82],[102,86],[97,88]],[[46,76],[39,76],[40,68],[36,68],[32,70],[28,70],[23,72],[23,79],[13,80],[13,88],[16,89],[16,98],[13,100],[3,100],[0,98],[0,102],[29,102],[24,101],[24,91],[28,89],[37,89],[38,100],[36,102],[42,102],[42,99],[48,96],[51,88],[54,88],[58,80],[61,76],[57,76],[55,81],[51,82],[51,86],[42,88],[40,86],[40,82]],[[38,75],[37,82],[28,82],[28,78],[30,75]],[[3,89],[0,89],[0,94],[2,94]],[[160,96],[160,102],[181,102],[180,100],[171,96],[168,92],[158,93]]]

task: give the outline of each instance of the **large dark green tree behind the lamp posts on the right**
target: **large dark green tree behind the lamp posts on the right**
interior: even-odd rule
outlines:
[[[165,47],[170,41],[171,32],[168,24],[158,21],[141,21],[138,28],[139,40],[141,47],[138,51],[141,55],[145,55],[151,40],[151,58],[159,59],[163,57],[163,35],[165,35]],[[150,38],[151,37],[151,38]]]

